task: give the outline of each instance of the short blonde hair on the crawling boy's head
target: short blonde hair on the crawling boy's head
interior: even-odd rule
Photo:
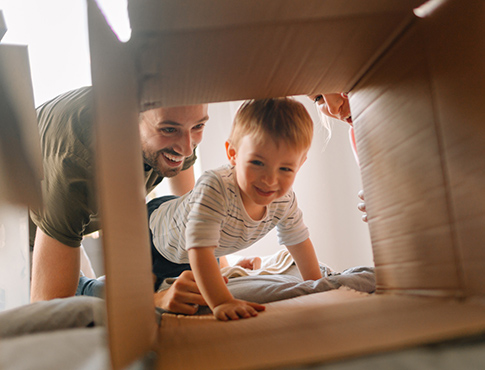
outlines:
[[[296,150],[307,151],[313,138],[313,121],[303,104],[292,98],[248,100],[234,117],[229,143],[239,147],[251,135],[256,141],[284,141]]]

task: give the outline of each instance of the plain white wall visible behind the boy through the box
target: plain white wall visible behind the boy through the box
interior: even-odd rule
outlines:
[[[332,138],[325,147],[325,132],[313,103],[298,97],[312,115],[315,137],[308,159],[295,181],[294,190],[310,229],[320,261],[335,270],[373,265],[367,224],[357,210],[361,189],[359,168],[349,144],[348,125],[335,121]],[[200,170],[227,163],[224,142],[229,136],[234,113],[240,102],[211,104],[210,121],[199,148]],[[276,233],[241,252],[242,255],[268,255],[279,250]]]

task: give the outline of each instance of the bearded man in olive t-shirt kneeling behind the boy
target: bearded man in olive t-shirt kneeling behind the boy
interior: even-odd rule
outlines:
[[[33,244],[31,300],[75,294],[84,235],[99,230],[94,180],[93,97],[90,87],[62,94],[37,109],[44,161],[45,206],[32,210],[37,226]],[[194,149],[209,119],[207,105],[156,108],[140,114],[139,129],[147,193],[163,178],[182,195],[192,189]],[[193,276],[184,274],[156,304],[183,312],[203,304]]]

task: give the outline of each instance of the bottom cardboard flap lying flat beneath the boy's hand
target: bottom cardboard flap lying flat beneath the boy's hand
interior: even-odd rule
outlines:
[[[482,304],[342,290],[296,300],[303,304],[281,302],[289,305],[274,311],[270,304],[267,312],[248,320],[169,320],[160,332],[158,368],[310,366],[485,331]]]

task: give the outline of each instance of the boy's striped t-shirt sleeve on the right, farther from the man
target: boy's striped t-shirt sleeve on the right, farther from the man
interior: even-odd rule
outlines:
[[[281,245],[295,245],[310,237],[310,232],[303,222],[303,213],[298,208],[295,193],[290,194],[290,206],[285,217],[276,225],[276,235]]]

